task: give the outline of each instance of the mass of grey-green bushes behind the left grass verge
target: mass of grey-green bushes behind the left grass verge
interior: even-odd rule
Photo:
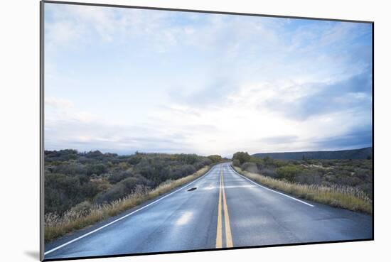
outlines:
[[[45,151],[45,211],[61,215],[80,202],[118,200],[136,185],[154,188],[210,163],[210,158],[195,154]]]

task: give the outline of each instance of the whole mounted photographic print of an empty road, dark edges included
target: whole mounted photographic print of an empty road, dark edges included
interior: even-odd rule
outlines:
[[[373,240],[373,22],[41,2],[41,259]]]

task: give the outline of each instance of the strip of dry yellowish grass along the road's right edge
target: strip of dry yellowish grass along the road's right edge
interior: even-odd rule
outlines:
[[[234,168],[238,173],[241,173],[245,177],[258,182],[259,184],[276,190],[281,190],[304,200],[311,200],[322,204],[329,204],[333,207],[342,207],[368,214],[372,214],[373,212],[372,200],[370,200],[370,197],[368,197],[365,192],[354,187],[338,185],[333,187],[325,187],[321,185],[300,185],[243,171],[235,166]]]

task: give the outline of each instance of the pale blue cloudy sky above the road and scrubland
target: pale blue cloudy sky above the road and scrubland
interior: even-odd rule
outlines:
[[[370,23],[45,3],[45,149],[372,146]]]

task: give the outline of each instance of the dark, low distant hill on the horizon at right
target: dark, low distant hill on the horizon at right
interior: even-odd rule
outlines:
[[[273,159],[367,159],[372,157],[372,147],[341,151],[308,151],[308,152],[284,152],[284,153],[256,153],[253,156],[264,158],[269,156]]]

